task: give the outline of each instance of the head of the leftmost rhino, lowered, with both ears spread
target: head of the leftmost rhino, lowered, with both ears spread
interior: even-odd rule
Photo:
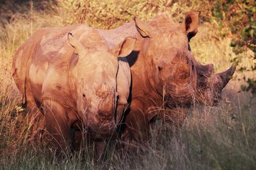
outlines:
[[[116,128],[118,56],[131,53],[136,39],[127,37],[109,48],[106,43],[100,45],[102,39],[98,38],[97,45],[86,47],[68,33],[68,41],[76,53],[73,54],[70,81],[73,82],[79,117],[86,123],[88,131],[108,135]]]

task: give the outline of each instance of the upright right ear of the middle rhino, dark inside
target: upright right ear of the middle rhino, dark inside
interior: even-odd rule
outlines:
[[[182,23],[182,31],[187,35],[188,41],[196,35],[198,31],[200,11],[189,11],[185,15],[184,22]]]

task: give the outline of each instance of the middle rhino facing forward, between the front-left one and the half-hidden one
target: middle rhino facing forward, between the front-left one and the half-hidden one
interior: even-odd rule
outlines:
[[[137,38],[133,52],[127,56],[132,85],[131,104],[125,115],[125,138],[148,139],[150,115],[157,112],[151,108],[163,108],[164,104],[173,109],[191,105],[196,91],[196,70],[188,57],[188,37],[192,38],[197,32],[198,13],[189,13],[186,17],[182,27],[170,19],[168,22],[173,26],[162,29],[155,20],[145,23],[134,18],[134,22],[122,27],[100,32],[110,39],[108,36],[114,32],[117,38],[122,37],[125,29],[130,30],[128,34],[134,32],[132,36]]]

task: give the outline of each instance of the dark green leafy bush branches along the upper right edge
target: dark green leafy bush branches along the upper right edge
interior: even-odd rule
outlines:
[[[256,73],[256,1],[253,0],[226,0],[211,1],[211,20],[217,20],[221,29],[227,30],[224,36],[232,36],[234,52],[237,57],[233,59],[235,64],[241,62],[244,52],[252,50],[252,54],[246,56],[253,62],[251,67],[242,66],[240,71],[253,71]],[[243,85],[242,90],[252,92],[256,97],[256,80],[246,78],[248,85]]]

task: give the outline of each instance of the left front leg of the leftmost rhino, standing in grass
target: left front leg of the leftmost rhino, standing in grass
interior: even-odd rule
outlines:
[[[72,124],[67,120],[65,108],[55,101],[47,100],[44,101],[44,113],[47,138],[52,142],[54,149],[58,154],[70,152]]]

